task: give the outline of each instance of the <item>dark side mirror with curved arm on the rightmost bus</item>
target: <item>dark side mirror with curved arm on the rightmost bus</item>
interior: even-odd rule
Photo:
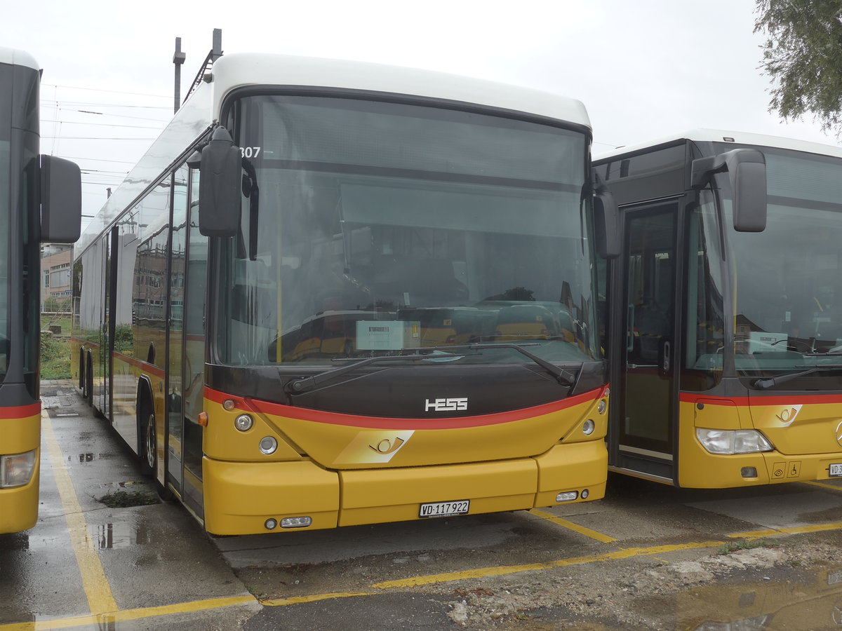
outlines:
[[[766,159],[756,149],[733,149],[693,161],[690,184],[704,188],[714,173],[727,171],[733,192],[734,230],[766,229]]]

